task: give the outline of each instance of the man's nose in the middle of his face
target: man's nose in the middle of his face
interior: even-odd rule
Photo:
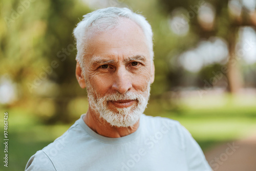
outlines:
[[[120,67],[114,74],[114,83],[112,88],[121,94],[126,93],[132,89],[131,73],[125,67]]]

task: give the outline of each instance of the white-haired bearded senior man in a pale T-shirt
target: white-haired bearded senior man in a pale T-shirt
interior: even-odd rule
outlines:
[[[155,71],[146,19],[114,7],[83,17],[74,29],[76,78],[89,109],[26,170],[211,170],[179,122],[143,114]]]

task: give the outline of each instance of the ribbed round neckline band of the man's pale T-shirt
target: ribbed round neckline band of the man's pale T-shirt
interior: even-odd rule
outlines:
[[[129,135],[126,135],[124,137],[120,137],[120,138],[110,138],[110,137],[104,137],[102,135],[99,135],[97,133],[95,133],[84,121],[83,121],[83,116],[85,116],[86,114],[82,114],[80,119],[78,119],[78,123],[79,125],[84,129],[84,131],[86,131],[90,136],[92,136],[94,139],[101,141],[103,143],[110,143],[110,144],[120,144],[120,143],[126,143],[126,142],[130,142],[135,140],[138,135],[141,132],[141,127],[142,127],[142,117],[144,117],[144,114],[141,115],[140,120],[139,120],[139,127],[138,129]]]

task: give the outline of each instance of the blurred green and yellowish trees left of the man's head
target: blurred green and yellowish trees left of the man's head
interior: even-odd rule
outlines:
[[[22,101],[34,99],[35,111],[41,101],[51,99],[54,114],[42,117],[48,123],[68,122],[69,101],[86,94],[75,78],[72,31],[88,12],[85,4],[72,0],[1,2],[0,74],[18,84]]]

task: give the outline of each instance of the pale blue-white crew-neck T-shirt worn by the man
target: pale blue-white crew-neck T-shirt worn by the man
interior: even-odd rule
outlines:
[[[134,133],[108,138],[92,131],[83,116],[37,151],[25,170],[211,170],[198,143],[178,121],[142,114]]]

